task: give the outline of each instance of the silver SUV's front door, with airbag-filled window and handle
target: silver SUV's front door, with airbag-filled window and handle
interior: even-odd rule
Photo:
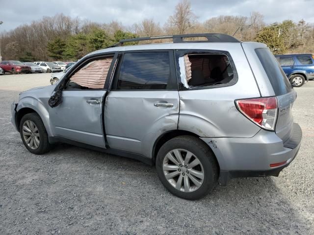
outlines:
[[[87,59],[66,75],[62,103],[49,110],[54,136],[105,148],[102,107],[113,60],[112,53]]]

